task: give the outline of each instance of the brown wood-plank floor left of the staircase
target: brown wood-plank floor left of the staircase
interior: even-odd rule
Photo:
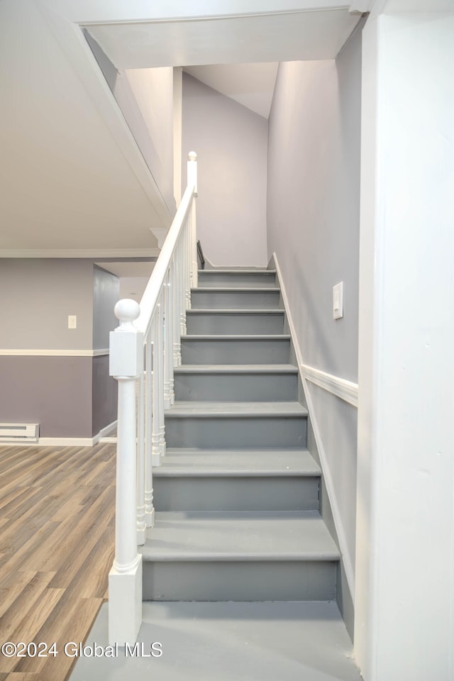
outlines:
[[[0,644],[56,642],[7,658],[0,681],[65,681],[106,599],[114,555],[115,451],[0,447]],[[33,646],[31,646],[33,653]]]

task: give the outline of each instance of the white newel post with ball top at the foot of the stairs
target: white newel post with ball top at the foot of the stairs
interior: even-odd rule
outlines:
[[[143,374],[140,308],[131,299],[115,306],[120,326],[110,334],[109,374],[118,381],[115,558],[109,572],[109,642],[135,643],[142,620],[142,556],[137,551],[135,382]]]

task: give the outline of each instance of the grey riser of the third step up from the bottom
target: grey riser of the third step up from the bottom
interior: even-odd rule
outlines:
[[[286,416],[231,416],[222,419],[166,415],[165,433],[167,447],[305,447],[306,419]]]

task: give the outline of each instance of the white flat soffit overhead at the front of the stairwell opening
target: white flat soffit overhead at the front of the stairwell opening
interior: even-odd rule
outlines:
[[[111,23],[89,33],[118,69],[336,57],[360,19],[345,9]]]

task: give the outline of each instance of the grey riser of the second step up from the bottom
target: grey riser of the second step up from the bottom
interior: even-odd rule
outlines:
[[[157,511],[316,511],[318,477],[158,477]]]

